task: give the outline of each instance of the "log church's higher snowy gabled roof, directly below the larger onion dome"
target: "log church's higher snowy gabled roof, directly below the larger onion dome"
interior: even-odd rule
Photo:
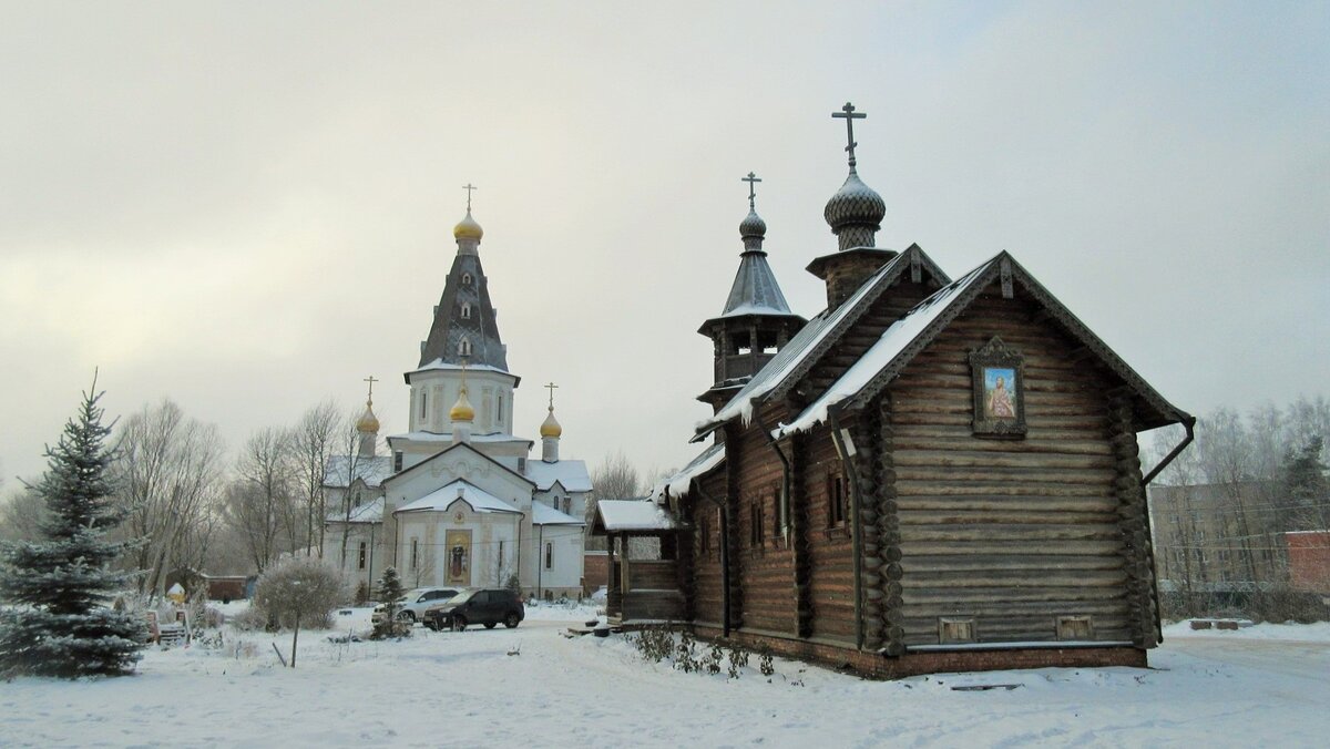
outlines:
[[[717,411],[716,416],[697,426],[693,442],[701,440],[730,419],[739,416],[745,422],[751,419],[753,407],[758,402],[779,398],[790,387],[794,387],[817,365],[818,359],[839,341],[841,335],[906,273],[910,273],[911,278],[922,278],[924,271],[939,283],[950,282],[947,274],[932,262],[919,245],[910,245],[910,249],[887,261],[841,306],[830,311],[823,310],[809,321],[729,403]]]

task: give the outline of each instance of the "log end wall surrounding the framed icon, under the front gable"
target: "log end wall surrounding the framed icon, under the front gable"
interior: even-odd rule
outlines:
[[[990,289],[891,386],[906,645],[938,644],[943,616],[974,617],[980,641],[1055,640],[1064,615],[1132,640],[1105,396],[1119,383],[1036,309]],[[967,355],[994,335],[1024,355],[1024,439],[971,432]]]

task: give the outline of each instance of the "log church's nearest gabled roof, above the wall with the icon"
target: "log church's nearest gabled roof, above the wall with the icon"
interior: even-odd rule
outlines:
[[[1095,353],[1099,359],[1121,378],[1136,395],[1152,408],[1150,418],[1142,420],[1144,428],[1184,422],[1188,414],[1164,399],[1127,362],[1108,347],[1089,327],[1076,318],[1039,281],[1036,281],[1009,253],[999,253],[975,270],[962,277],[923,302],[919,302],[903,318],[892,323],[854,365],[795,416],[789,424],[775,430],[777,435],[805,431],[827,419],[833,407],[858,408],[872,399],[908,365],[914,357],[963,313],[984,289],[1008,274],[1012,283],[1019,283],[1035,298],[1061,326],[1083,346]]]

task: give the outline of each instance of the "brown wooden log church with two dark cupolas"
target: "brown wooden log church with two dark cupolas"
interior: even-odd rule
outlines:
[[[839,246],[807,266],[827,307],[805,322],[786,305],[750,174],[739,270],[701,329],[714,416],[693,442],[710,444],[657,488],[654,515],[610,506],[593,527],[661,537],[677,589],[632,589],[621,553],[610,613],[878,676],[1145,665],[1157,470],[1142,476],[1137,434],[1182,424],[1172,459],[1194,419],[1011,254],[952,279],[918,245],[878,249],[862,114],[835,116],[850,134],[825,210]]]

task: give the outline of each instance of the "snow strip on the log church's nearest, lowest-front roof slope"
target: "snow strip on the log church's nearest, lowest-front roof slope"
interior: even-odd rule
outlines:
[[[822,394],[821,398],[813,402],[802,414],[795,416],[789,424],[779,424],[771,431],[774,436],[782,436],[786,434],[797,431],[807,431],[815,424],[819,424],[827,419],[827,411],[841,403],[847,398],[857,395],[868,380],[878,375],[882,370],[891,365],[891,362],[900,355],[902,351],[919,337],[928,325],[938,319],[938,317],[951,306],[958,297],[966,293],[975,281],[983,275],[983,271],[992,265],[994,261],[988,261],[975,270],[970,271],[967,275],[952,282],[950,286],[944,286],[934,293],[927,299],[915,305],[912,310],[906,313],[906,317],[891,323],[887,330],[882,333],[882,338],[878,339],[854,365],[850,366],[841,375],[841,379],[831,383],[831,387]]]

